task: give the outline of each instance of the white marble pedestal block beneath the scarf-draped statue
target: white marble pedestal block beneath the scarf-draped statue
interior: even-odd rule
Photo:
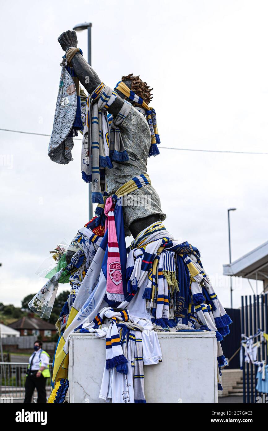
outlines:
[[[217,403],[215,332],[158,333],[163,362],[144,366],[147,403]],[[71,334],[69,402],[105,403],[99,399],[105,365],[105,340]]]

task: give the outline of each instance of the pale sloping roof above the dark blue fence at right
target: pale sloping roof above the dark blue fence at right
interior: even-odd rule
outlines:
[[[246,253],[240,259],[228,265],[223,265],[223,275],[256,278],[256,273],[258,280],[268,278],[268,241]]]

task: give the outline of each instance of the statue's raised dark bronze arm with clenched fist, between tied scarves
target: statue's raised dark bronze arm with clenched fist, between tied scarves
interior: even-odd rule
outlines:
[[[77,36],[76,32],[73,30],[68,30],[62,33],[58,37],[58,41],[64,51],[70,47],[77,47]],[[94,69],[86,62],[83,56],[80,53],[76,53],[73,59],[71,60],[74,71],[83,85],[86,88],[86,91],[91,94],[93,90],[101,83],[101,80]],[[108,109],[108,112],[113,114],[113,116],[117,116],[118,112],[123,106],[123,99],[118,96],[111,107]]]

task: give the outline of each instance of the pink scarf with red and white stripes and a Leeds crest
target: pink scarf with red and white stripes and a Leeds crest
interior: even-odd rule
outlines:
[[[106,294],[108,300],[122,302],[125,298],[123,293],[120,254],[114,222],[114,203],[111,197],[106,199],[104,213],[106,215],[105,231],[108,228]]]

